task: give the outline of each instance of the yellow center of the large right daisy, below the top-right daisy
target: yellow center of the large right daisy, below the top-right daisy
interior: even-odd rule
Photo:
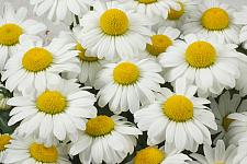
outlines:
[[[215,48],[206,42],[195,42],[186,51],[186,60],[193,68],[206,68],[216,60]]]

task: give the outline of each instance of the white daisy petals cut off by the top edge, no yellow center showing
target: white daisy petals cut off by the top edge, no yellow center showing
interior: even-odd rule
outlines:
[[[47,13],[48,20],[64,21],[68,15],[82,16],[94,0],[30,0],[34,12],[41,16]]]

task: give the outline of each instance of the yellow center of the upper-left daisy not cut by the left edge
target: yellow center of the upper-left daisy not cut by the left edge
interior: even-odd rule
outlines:
[[[22,66],[30,72],[40,72],[47,69],[53,62],[53,55],[44,48],[32,48],[22,58]]]

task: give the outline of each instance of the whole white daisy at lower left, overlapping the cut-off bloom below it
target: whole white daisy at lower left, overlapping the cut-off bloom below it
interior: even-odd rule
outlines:
[[[18,134],[35,134],[47,145],[52,144],[54,137],[76,140],[78,130],[86,128],[86,118],[97,116],[94,95],[79,85],[72,80],[61,80],[43,92],[10,98],[8,104],[14,108],[10,112],[8,125],[20,121]]]

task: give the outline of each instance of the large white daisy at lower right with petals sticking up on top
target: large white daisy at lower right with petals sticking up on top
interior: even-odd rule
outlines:
[[[176,92],[164,87],[156,101],[134,114],[142,131],[147,131],[147,143],[166,141],[178,150],[197,151],[202,143],[211,144],[211,133],[216,130],[213,113],[205,106],[210,101],[194,97],[197,86],[187,85],[184,79],[176,82]]]

